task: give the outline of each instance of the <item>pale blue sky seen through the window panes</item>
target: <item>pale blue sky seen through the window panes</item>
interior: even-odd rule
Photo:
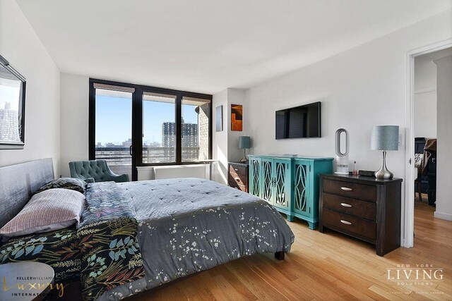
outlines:
[[[132,100],[104,95],[96,96],[96,144],[127,141],[132,133]],[[196,106],[183,105],[185,123],[197,123]],[[143,103],[143,141],[162,142],[162,123],[174,122],[175,105],[164,102]]]

